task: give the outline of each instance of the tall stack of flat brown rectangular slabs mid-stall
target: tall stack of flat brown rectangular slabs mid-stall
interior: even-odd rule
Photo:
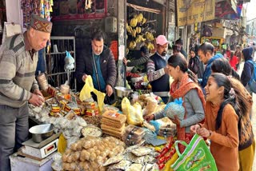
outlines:
[[[102,114],[102,132],[113,137],[122,137],[126,128],[126,115],[112,110],[106,110]]]

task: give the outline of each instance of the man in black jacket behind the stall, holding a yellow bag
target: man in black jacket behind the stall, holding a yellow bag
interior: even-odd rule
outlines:
[[[117,67],[111,50],[104,46],[104,34],[101,30],[92,34],[90,48],[82,50],[76,60],[75,77],[78,80],[78,91],[82,89],[88,75],[93,78],[95,89],[113,97]]]

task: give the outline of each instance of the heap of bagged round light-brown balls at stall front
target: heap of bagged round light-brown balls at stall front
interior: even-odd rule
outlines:
[[[64,170],[106,170],[103,164],[119,153],[125,144],[114,137],[82,138],[70,145],[62,155]]]

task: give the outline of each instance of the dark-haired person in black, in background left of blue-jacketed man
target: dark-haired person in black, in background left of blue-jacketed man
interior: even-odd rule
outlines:
[[[190,61],[189,61],[189,69],[198,76],[198,78],[202,78],[203,74],[203,64],[200,61],[197,50],[194,47],[190,49]]]

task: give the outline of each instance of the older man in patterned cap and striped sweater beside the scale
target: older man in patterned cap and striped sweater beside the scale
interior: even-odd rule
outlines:
[[[0,171],[10,170],[10,155],[28,137],[28,102],[40,106],[44,97],[34,73],[38,50],[50,40],[52,23],[32,14],[24,34],[7,38],[0,49]]]

